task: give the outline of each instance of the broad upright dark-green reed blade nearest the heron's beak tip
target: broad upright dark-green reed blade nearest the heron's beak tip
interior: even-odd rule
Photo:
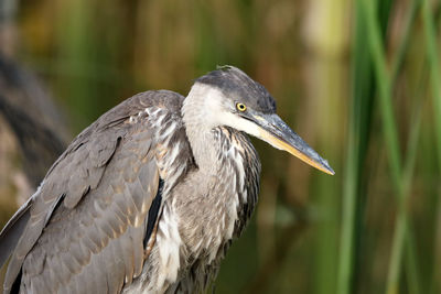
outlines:
[[[369,126],[373,111],[372,58],[365,45],[366,21],[359,1],[355,2],[355,23],[353,30],[353,53],[351,68],[352,100],[348,111],[347,157],[343,189],[342,232],[340,243],[337,293],[354,292],[354,279],[357,270],[355,252],[357,251],[356,229],[361,228],[363,218],[357,215],[363,209],[366,190],[362,190],[363,166],[366,160],[369,141]]]

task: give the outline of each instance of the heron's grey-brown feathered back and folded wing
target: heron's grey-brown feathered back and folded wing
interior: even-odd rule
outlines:
[[[117,293],[140,275],[160,177],[170,189],[192,167],[183,99],[165,90],[137,95],[72,142],[0,235],[1,260],[14,250],[6,293]],[[160,150],[176,143],[183,168],[165,172]]]

